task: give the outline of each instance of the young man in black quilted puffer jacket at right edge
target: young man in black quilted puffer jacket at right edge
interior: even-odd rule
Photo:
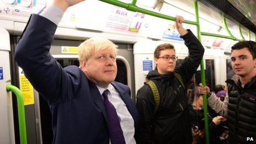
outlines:
[[[236,74],[226,81],[225,100],[221,102],[204,87],[207,101],[212,109],[227,118],[230,143],[248,140],[256,143],[256,42],[239,41],[231,49],[232,69]]]

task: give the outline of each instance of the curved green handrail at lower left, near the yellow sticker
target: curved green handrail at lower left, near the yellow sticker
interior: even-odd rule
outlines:
[[[22,92],[20,92],[20,90],[17,87],[12,86],[12,84],[7,84],[6,90],[7,92],[12,91],[17,97],[20,143],[26,144],[26,120]]]

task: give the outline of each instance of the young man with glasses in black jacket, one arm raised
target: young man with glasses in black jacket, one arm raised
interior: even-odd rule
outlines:
[[[191,143],[191,122],[186,97],[186,85],[193,77],[204,55],[204,47],[190,30],[183,28],[183,17],[175,22],[181,38],[189,48],[189,56],[176,66],[177,56],[174,46],[162,44],[154,51],[156,69],[147,74],[159,92],[159,106],[154,113],[154,95],[145,84],[137,92],[137,109],[140,126],[136,135],[137,143]],[[182,84],[174,75],[179,73]]]

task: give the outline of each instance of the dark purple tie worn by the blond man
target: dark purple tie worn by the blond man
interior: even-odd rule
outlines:
[[[109,102],[108,93],[109,90],[106,89],[102,95],[104,98],[104,105],[108,119],[110,141],[111,144],[125,144],[125,138],[122,134],[118,114],[116,113],[114,105]]]

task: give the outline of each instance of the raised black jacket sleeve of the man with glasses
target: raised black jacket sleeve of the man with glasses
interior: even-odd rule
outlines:
[[[205,50],[200,41],[190,30],[188,30],[187,34],[180,37],[185,41],[185,45],[189,49],[189,55],[175,68],[175,70],[180,73],[183,81],[189,82],[200,65]]]

